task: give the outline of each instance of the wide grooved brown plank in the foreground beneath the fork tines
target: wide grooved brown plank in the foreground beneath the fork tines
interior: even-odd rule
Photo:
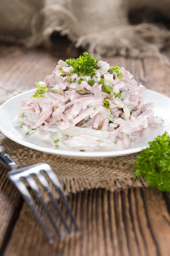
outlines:
[[[169,255],[170,215],[156,189],[89,190],[71,195],[69,202],[81,223],[81,237],[48,244],[24,203],[4,256]]]

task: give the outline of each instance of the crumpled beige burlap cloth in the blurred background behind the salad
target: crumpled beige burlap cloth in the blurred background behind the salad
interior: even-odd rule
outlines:
[[[1,0],[0,40],[51,48],[59,32],[97,57],[162,57],[169,14],[170,0]]]

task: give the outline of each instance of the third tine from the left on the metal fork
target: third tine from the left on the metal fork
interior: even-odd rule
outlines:
[[[69,234],[71,234],[71,228],[68,226],[67,221],[66,221],[64,215],[62,214],[62,211],[61,211],[60,207],[58,206],[58,203],[57,203],[56,199],[54,198],[54,195],[51,192],[51,188],[48,184],[48,181],[40,172],[36,173],[36,176],[37,176],[37,179],[40,181],[41,185],[43,186],[45,192],[47,192],[52,203],[54,204],[54,207],[59,212],[60,218],[62,219],[62,222],[65,225],[66,230],[68,231]]]

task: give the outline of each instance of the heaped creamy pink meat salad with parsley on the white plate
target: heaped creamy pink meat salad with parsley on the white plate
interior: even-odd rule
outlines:
[[[127,148],[163,122],[154,115],[153,103],[144,103],[146,89],[130,72],[88,52],[59,60],[36,85],[37,91],[21,101],[17,128],[26,128],[26,136],[46,136],[56,149]]]

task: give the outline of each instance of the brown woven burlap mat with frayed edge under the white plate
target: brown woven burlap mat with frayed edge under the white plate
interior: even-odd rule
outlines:
[[[24,90],[26,88],[20,88],[8,94],[8,98]],[[8,98],[2,99],[0,105]],[[143,178],[136,178],[133,175],[136,154],[108,158],[60,157],[26,148],[11,141],[2,133],[0,133],[0,145],[5,146],[6,152],[20,166],[48,163],[57,174],[66,194],[92,188],[114,191],[147,186]],[[2,167],[0,167],[1,170]]]

